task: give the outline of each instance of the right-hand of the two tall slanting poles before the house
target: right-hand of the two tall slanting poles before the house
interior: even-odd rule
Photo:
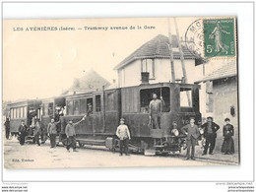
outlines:
[[[180,42],[180,39],[179,39],[179,31],[178,31],[176,18],[173,18],[173,20],[174,20],[176,34],[177,34],[178,48],[179,48],[181,67],[182,67],[182,72],[183,72],[183,77],[184,77],[184,83],[187,84],[187,72],[186,72],[186,66],[185,66],[185,63],[184,63],[184,54],[183,54],[182,47],[181,47],[181,42]],[[191,100],[190,100],[189,92],[186,92],[186,93],[187,93],[188,105],[191,106]]]

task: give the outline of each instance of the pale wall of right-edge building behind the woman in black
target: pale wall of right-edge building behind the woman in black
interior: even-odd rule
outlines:
[[[237,97],[237,78],[225,78],[214,81],[214,121],[221,126],[218,132],[216,151],[220,152],[224,141],[223,127],[224,119],[229,118],[234,127],[234,150],[238,152],[238,97]],[[230,107],[234,106],[235,115],[231,116]]]

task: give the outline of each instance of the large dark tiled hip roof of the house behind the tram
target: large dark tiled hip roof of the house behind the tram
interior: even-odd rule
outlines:
[[[147,58],[170,58],[169,55],[169,38],[163,34],[159,34],[150,41],[144,43],[141,47],[136,49],[132,54],[126,57],[122,62],[120,62],[114,70],[118,70],[125,65],[137,60],[137,59],[147,59]],[[178,47],[177,36],[172,35],[172,47]],[[185,59],[196,58],[187,47],[182,46]],[[173,58],[179,59],[179,51],[173,50]]]

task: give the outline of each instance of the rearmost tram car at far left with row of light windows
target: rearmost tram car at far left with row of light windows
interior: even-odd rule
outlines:
[[[8,104],[10,108],[10,132],[12,136],[19,135],[19,127],[24,120],[27,125],[26,142],[33,142],[32,128],[40,118],[41,100],[31,99]],[[19,139],[19,138],[18,138]]]

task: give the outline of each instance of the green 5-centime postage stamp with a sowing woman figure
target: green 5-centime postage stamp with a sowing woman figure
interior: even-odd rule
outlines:
[[[235,18],[205,19],[203,27],[205,57],[235,56]]]

